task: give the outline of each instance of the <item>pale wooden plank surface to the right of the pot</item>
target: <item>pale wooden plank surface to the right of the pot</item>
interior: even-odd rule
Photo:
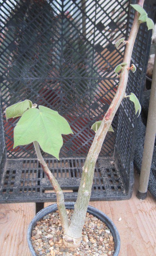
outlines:
[[[156,255],[156,203],[149,192],[145,200],[138,200],[137,188],[138,177],[130,200],[89,203],[115,223],[121,239],[119,256]],[[45,203],[44,207],[50,204]],[[122,220],[118,221],[120,217]]]

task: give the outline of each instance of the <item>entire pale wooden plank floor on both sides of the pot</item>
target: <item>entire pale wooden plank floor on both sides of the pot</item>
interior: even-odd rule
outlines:
[[[119,256],[156,255],[156,204],[150,193],[145,200],[136,198],[137,183],[130,200],[90,202],[117,226],[121,238]],[[34,215],[34,203],[0,205],[1,256],[30,256],[26,230]]]

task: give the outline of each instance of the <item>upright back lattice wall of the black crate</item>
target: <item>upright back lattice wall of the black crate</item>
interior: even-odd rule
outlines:
[[[117,5],[118,3],[118,5]],[[59,111],[74,135],[64,136],[61,157],[86,156],[117,90],[114,67],[124,47],[129,1],[2,1],[1,91],[3,110],[24,99]],[[8,158],[35,156],[33,145],[13,150],[17,120],[4,119]],[[116,129],[117,116],[113,120]],[[111,156],[109,132],[100,156]],[[45,155],[47,156],[47,155]]]

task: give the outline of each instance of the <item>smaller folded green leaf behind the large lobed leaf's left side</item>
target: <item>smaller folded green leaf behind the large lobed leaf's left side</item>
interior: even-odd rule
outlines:
[[[9,118],[22,116],[22,114],[29,108],[32,108],[31,100],[24,100],[6,108],[6,120],[8,120]]]

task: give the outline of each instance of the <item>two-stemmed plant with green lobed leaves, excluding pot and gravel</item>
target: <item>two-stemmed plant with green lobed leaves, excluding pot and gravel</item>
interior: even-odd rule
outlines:
[[[6,109],[7,119],[21,116],[14,129],[14,148],[33,142],[38,160],[55,190],[60,221],[64,231],[63,242],[67,247],[78,247],[81,243],[82,228],[89,204],[96,160],[107,132],[109,130],[112,131],[111,123],[121,101],[129,97],[134,103],[136,113],[138,112],[139,115],[141,111],[137,97],[133,93],[126,95],[125,90],[129,72],[135,72],[136,70],[134,64],[130,66],[130,62],[140,23],[146,22],[148,29],[154,31],[154,23],[148,18],[147,13],[142,8],[143,3],[144,0],[139,0],[138,4],[131,5],[136,10],[136,13],[128,40],[125,41],[124,38],[121,38],[116,42],[116,47],[121,43],[126,44],[123,63],[114,70],[116,73],[120,72],[118,89],[103,120],[96,122],[92,126],[96,135],[89,149],[85,164],[82,167],[82,179],[70,224],[68,222],[63,192],[57,180],[48,169],[39,148],[40,146],[43,151],[59,159],[60,148],[63,144],[61,134],[73,133],[69,124],[58,112],[43,106],[36,108],[37,105],[32,104],[30,100],[18,102]]]

